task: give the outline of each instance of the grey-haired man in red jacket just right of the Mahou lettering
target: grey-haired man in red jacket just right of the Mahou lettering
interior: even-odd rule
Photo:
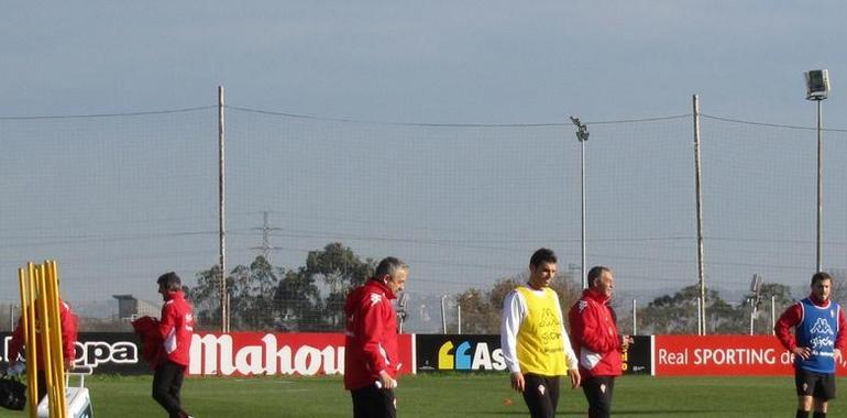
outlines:
[[[392,306],[408,276],[406,263],[386,257],[374,276],[346,298],[344,388],[353,397],[354,418],[394,418],[394,388],[400,370],[397,314]]]

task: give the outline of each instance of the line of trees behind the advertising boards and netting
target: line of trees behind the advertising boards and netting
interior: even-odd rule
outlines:
[[[230,329],[233,331],[341,331],[344,328],[344,300],[348,293],[362,285],[373,274],[376,261],[362,258],[342,243],[327,244],[310,251],[305,265],[284,268],[272,265],[264,256],[256,256],[249,265],[237,265],[227,274],[230,297]],[[833,299],[846,301],[847,271],[832,271],[835,278]],[[198,328],[220,329],[220,266],[197,273],[197,285],[186,288],[195,305]],[[527,273],[496,279],[490,288],[472,287],[455,295],[461,309],[462,332],[499,333],[503,300],[519,284],[527,282]],[[566,310],[580,298],[580,280],[566,273],[553,280],[562,309]],[[638,333],[696,333],[696,285],[663,295],[639,307]],[[750,295],[752,296],[752,295]],[[776,300],[777,315],[796,300],[789,286],[763,283],[760,287],[755,333],[771,331],[770,301]],[[806,294],[800,297],[805,297]],[[706,290],[706,329],[708,333],[746,334],[750,331],[751,298],[727,301],[718,292]],[[623,300],[613,301],[622,332],[631,332],[631,309]],[[411,310],[410,315],[415,315]],[[458,328],[452,316],[450,329]]]

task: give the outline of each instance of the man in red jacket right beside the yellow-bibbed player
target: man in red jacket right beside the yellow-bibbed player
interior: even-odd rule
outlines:
[[[590,418],[606,418],[612,414],[615,377],[623,374],[620,354],[631,342],[620,336],[615,324],[615,311],[609,306],[615,277],[608,267],[588,271],[588,287],[568,312],[571,343],[580,359],[582,391],[588,400]]]

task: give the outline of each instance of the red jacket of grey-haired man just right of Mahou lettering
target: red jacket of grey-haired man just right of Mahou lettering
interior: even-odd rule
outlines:
[[[392,378],[400,370],[397,350],[397,315],[394,293],[383,283],[369,279],[346,298],[344,314],[344,387],[373,385],[385,371]]]

